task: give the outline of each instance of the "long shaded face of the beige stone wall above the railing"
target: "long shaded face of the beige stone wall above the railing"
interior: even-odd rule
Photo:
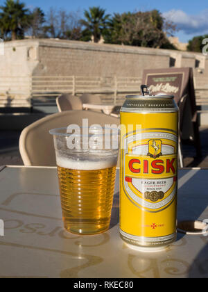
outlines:
[[[139,76],[150,64],[168,67],[168,54],[83,42],[40,41],[39,60],[44,65],[35,74],[77,76]]]

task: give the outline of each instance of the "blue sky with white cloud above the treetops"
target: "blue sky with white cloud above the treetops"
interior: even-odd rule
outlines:
[[[194,35],[208,33],[208,0],[21,0],[28,8],[39,6],[47,12],[50,7],[69,11],[83,10],[90,6],[101,6],[107,13],[123,13],[135,10],[158,9],[181,29],[176,33],[180,41],[187,42]],[[3,3],[4,0],[0,0]]]

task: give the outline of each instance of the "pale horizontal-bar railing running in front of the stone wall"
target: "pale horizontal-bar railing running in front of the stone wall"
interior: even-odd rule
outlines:
[[[119,76],[3,76],[0,99],[27,99],[51,102],[64,93],[101,95],[104,102],[122,104],[125,95],[139,93],[141,79]],[[208,106],[208,87],[196,88],[198,106]]]

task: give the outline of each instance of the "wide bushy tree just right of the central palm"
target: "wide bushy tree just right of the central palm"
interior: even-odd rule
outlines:
[[[167,39],[167,34],[172,35],[173,31],[175,26],[166,24],[157,10],[145,13],[116,13],[110,20],[109,29],[105,31],[105,41],[138,47],[169,46],[173,49]]]

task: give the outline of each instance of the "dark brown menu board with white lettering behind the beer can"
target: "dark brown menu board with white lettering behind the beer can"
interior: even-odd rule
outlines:
[[[194,141],[201,156],[200,133],[192,68],[144,70],[143,84],[152,95],[174,95],[180,108],[180,138]]]

